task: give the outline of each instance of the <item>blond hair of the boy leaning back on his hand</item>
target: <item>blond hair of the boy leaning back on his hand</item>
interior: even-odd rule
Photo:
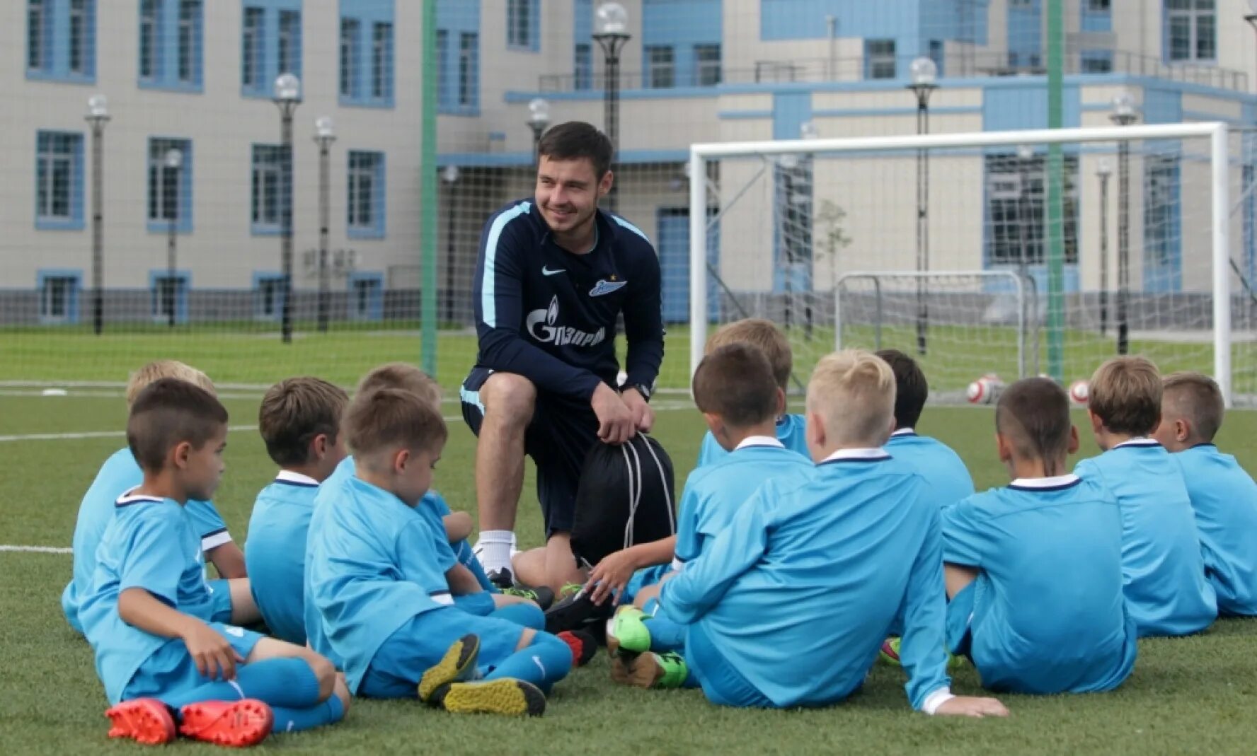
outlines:
[[[881,446],[895,416],[895,373],[880,357],[843,349],[821,358],[807,383],[807,411],[841,446]]]

